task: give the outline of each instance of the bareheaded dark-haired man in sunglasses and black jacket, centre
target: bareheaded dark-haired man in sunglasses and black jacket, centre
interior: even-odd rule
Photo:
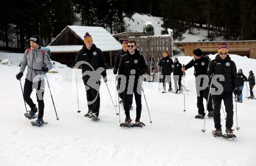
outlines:
[[[129,124],[130,119],[130,98],[134,94],[136,101],[136,123],[140,124],[141,116],[141,80],[140,76],[147,71],[147,63],[143,55],[136,49],[136,42],[131,40],[128,43],[129,53],[125,54],[121,60],[118,75],[126,77],[125,91],[123,92],[125,123]],[[122,84],[121,84],[122,86]],[[138,90],[137,90],[138,87]]]

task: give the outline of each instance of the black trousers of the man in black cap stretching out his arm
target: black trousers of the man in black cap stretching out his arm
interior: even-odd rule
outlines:
[[[200,97],[197,97],[198,114],[201,114],[202,116],[205,116],[204,98],[207,101],[208,95],[209,95],[209,88],[206,88],[205,90],[200,90]],[[214,109],[212,108],[212,95],[211,94],[209,95],[207,110],[208,110],[208,112],[214,111]]]

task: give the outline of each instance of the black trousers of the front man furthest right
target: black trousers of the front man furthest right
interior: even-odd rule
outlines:
[[[212,95],[214,100],[214,126],[221,128],[221,101],[223,99],[226,109],[226,128],[233,126],[233,94],[232,92],[223,92],[221,95]]]

